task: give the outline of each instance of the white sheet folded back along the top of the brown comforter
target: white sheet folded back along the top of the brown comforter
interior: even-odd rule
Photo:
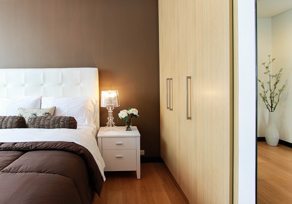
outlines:
[[[92,129],[87,128],[87,126],[80,126],[77,129],[0,129],[0,142],[74,142],[88,149],[89,152],[93,155],[103,180],[105,181],[106,178],[103,172],[105,164],[99,152],[96,138],[92,134]]]

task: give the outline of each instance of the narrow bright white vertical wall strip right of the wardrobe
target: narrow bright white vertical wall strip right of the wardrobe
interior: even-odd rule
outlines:
[[[255,1],[238,1],[238,204],[255,203]]]

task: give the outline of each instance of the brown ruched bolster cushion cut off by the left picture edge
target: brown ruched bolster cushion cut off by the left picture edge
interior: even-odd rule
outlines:
[[[26,128],[25,118],[22,116],[0,116],[0,129]]]

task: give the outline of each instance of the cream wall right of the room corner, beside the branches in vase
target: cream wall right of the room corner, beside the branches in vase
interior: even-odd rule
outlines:
[[[285,84],[280,102],[275,110],[276,124],[280,139],[292,143],[292,9],[272,17],[272,51],[276,60],[273,62],[273,73],[283,69],[279,88]]]

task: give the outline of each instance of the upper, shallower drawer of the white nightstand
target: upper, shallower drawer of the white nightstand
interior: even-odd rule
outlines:
[[[136,137],[103,138],[103,150],[136,149]]]

